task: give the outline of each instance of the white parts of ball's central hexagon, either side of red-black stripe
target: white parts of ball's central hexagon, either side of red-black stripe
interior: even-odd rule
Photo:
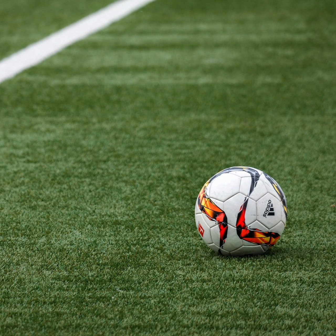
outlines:
[[[241,193],[238,193],[224,202],[223,210],[227,216],[227,222],[230,225],[236,227],[237,216],[245,200],[246,200],[246,196]],[[251,224],[257,219],[256,213],[257,213],[257,208],[256,208],[255,201],[248,199],[247,207],[245,211],[245,224],[246,225]]]

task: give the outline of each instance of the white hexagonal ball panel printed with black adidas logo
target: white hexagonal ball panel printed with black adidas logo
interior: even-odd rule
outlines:
[[[257,220],[267,229],[280,222],[282,211],[279,199],[269,193],[257,201]]]

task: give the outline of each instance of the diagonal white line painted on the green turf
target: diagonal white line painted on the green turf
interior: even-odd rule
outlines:
[[[119,0],[0,61],[0,83],[154,0]]]

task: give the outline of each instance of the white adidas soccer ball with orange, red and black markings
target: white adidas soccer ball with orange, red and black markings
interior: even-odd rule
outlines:
[[[263,254],[282,235],[286,198],[279,184],[251,167],[231,167],[212,176],[195,206],[199,234],[223,255]]]

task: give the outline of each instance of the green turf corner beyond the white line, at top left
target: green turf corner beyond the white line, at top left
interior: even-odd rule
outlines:
[[[13,0],[0,7],[0,59],[109,5],[111,0]]]

